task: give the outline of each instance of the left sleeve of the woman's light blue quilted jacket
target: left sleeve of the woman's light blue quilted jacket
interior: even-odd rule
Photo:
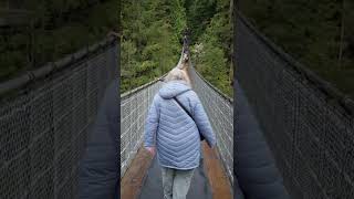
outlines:
[[[144,134],[144,146],[153,147],[155,146],[155,137],[158,127],[159,109],[157,106],[158,96],[155,95],[153,104],[150,105],[147,114],[145,134]]]

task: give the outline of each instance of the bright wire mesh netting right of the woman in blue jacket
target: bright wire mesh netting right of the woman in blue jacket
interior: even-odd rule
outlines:
[[[190,64],[191,65],[191,64]],[[217,137],[217,148],[227,175],[233,186],[233,105],[232,100],[221,94],[190,67],[194,91],[199,96]]]

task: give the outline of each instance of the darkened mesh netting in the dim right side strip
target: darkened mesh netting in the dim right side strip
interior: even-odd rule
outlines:
[[[238,80],[293,198],[354,198],[354,117],[238,17]]]

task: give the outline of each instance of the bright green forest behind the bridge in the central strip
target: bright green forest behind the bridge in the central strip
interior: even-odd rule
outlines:
[[[121,93],[176,66],[183,31],[191,31],[192,63],[225,94],[232,96],[231,12],[229,0],[123,0]]]

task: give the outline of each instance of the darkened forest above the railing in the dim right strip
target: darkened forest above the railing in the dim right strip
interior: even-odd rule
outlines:
[[[300,63],[354,98],[354,2],[247,0],[243,15]]]

